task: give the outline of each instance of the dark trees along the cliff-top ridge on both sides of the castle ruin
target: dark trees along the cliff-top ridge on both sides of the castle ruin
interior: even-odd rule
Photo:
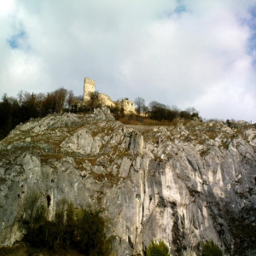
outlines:
[[[125,110],[120,102],[118,101],[114,107],[109,107],[115,119],[125,117]],[[155,101],[146,106],[142,97],[137,97],[134,103],[137,119],[142,115],[148,119],[170,122],[176,118],[200,119],[199,112],[195,108],[180,111],[176,107],[170,108]],[[31,118],[45,117],[49,113],[87,112],[101,107],[102,102],[98,91],[91,93],[90,100],[86,103],[83,102],[83,96],[74,96],[73,90],[66,90],[63,87],[45,94],[22,90],[16,97],[4,94],[0,102],[0,140],[6,137],[16,125]]]

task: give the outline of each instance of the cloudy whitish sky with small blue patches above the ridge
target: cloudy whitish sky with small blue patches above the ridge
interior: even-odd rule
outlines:
[[[205,119],[256,122],[256,0],[0,0],[0,96],[84,77]]]

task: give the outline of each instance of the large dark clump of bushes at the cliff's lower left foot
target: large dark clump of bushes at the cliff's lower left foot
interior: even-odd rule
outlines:
[[[59,252],[62,248],[71,248],[88,256],[109,254],[111,238],[107,239],[107,222],[102,218],[101,208],[75,209],[73,203],[61,200],[56,203],[55,218],[49,220],[49,206],[49,195],[47,206],[38,192],[32,191],[26,195],[24,241],[32,247],[48,248],[54,252]]]

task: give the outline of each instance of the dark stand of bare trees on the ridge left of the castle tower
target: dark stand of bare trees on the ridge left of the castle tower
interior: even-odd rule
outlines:
[[[49,113],[72,110],[81,96],[74,96],[72,90],[59,88],[52,92],[29,93],[20,90],[17,97],[4,94],[0,102],[0,139],[6,137],[16,125],[31,118],[44,117]]]

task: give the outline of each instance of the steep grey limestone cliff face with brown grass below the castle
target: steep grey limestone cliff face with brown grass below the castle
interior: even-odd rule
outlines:
[[[227,255],[256,255],[253,125],[138,130],[102,108],[32,119],[0,148],[2,245],[22,238],[24,200],[37,189],[49,218],[63,198],[104,207],[112,255],[143,255],[157,239],[172,255],[199,255],[210,240]]]

